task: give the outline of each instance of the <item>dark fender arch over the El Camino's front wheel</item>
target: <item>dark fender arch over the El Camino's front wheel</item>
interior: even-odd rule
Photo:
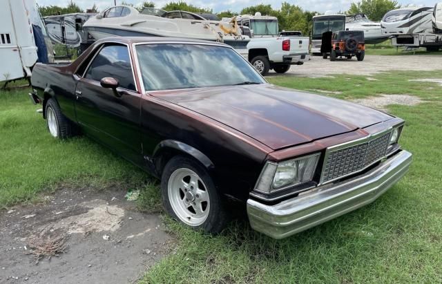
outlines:
[[[202,151],[177,140],[163,140],[153,150],[155,171],[161,176],[167,162],[176,155],[189,156],[202,164],[208,171],[215,169],[215,164]]]

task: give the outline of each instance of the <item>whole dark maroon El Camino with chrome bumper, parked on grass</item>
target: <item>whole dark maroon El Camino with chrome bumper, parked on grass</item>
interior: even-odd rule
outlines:
[[[53,137],[108,146],[161,179],[173,218],[213,233],[236,201],[253,229],[296,234],[374,201],[412,162],[400,118],[268,84],[224,44],[108,38],[31,82]]]

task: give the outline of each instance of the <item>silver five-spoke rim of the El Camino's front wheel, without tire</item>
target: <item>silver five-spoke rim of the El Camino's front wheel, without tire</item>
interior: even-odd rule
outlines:
[[[173,171],[167,184],[167,193],[173,211],[183,223],[196,227],[202,225],[209,216],[209,192],[200,176],[191,169]]]

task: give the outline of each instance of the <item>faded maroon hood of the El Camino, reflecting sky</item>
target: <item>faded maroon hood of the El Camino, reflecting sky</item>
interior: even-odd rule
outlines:
[[[151,95],[210,117],[273,150],[392,119],[359,104],[271,84],[157,91]]]

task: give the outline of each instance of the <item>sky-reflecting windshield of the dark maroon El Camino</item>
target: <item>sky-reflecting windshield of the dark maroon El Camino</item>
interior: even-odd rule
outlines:
[[[265,83],[241,55],[223,46],[142,44],[136,52],[146,91]]]

